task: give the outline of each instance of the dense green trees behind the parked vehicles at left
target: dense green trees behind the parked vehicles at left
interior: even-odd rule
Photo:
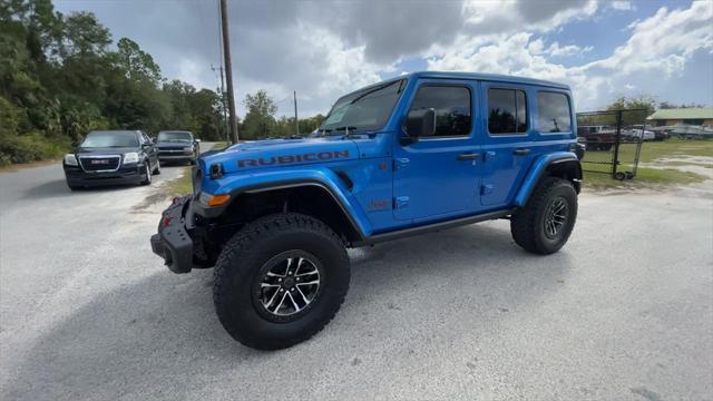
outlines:
[[[0,165],[61,155],[91,129],[187,129],[227,138],[223,95],[167,80],[129,38],[116,43],[91,12],[62,14],[51,0],[0,1]],[[264,92],[245,99],[241,136],[294,131]],[[267,108],[265,108],[267,106]],[[301,119],[301,131],[321,117]]]

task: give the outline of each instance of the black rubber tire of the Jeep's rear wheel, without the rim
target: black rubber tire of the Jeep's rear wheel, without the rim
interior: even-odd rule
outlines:
[[[564,199],[568,215],[561,232],[555,238],[546,234],[545,219],[548,207],[555,199]],[[577,219],[577,192],[563,178],[544,178],[535,188],[525,207],[512,214],[510,233],[512,239],[528,252],[547,255],[559,251],[569,238]]]

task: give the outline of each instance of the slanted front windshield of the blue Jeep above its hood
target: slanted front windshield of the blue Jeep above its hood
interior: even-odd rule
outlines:
[[[391,116],[391,110],[399,100],[404,84],[406,80],[401,79],[341,97],[326,115],[319,130],[335,135],[346,129],[381,128]]]

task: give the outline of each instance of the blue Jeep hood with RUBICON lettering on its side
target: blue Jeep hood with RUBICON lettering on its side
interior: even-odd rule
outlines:
[[[237,144],[221,153],[204,156],[202,168],[207,172],[211,165],[219,163],[223,165],[223,172],[237,173],[356,158],[356,145],[343,137],[266,139]]]

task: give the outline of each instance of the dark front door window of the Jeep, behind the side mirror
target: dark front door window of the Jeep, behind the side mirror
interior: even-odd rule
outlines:
[[[416,94],[411,110],[436,110],[434,136],[470,134],[470,89],[459,86],[422,86]]]

